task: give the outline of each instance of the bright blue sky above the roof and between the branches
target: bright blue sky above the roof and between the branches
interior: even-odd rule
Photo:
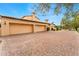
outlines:
[[[31,3],[0,3],[0,15],[21,18],[22,16],[31,15],[33,12],[32,8],[33,4]],[[55,15],[53,12],[54,8],[55,4],[52,5],[49,13],[46,16],[39,14],[37,17],[40,19],[40,21],[45,21],[45,19],[48,19],[50,23],[54,22],[56,25],[59,25],[65,10],[62,8],[62,13]],[[76,5],[75,8],[79,9],[79,4]]]

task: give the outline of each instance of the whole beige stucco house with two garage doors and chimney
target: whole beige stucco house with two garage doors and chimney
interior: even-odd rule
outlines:
[[[0,36],[47,31],[47,28],[51,30],[51,28],[54,29],[54,26],[51,26],[47,20],[46,22],[40,22],[35,13],[21,19],[0,16]]]

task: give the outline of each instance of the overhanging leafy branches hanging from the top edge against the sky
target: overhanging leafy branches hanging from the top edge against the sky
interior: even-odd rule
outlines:
[[[41,12],[42,14],[46,14],[49,12],[49,10],[51,9],[53,4],[51,3],[38,3],[35,6],[35,11],[37,11],[37,13]],[[65,14],[68,15],[68,17],[70,16],[70,14],[73,12],[73,6],[75,4],[73,3],[57,3],[56,7],[54,8],[54,13],[56,15],[58,15],[62,10],[62,7],[64,7],[64,9],[66,10]],[[38,12],[39,11],[39,12]]]

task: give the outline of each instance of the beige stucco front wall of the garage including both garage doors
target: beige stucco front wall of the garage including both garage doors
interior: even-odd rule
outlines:
[[[46,31],[47,24],[2,18],[1,25],[1,35],[6,36],[12,34]]]

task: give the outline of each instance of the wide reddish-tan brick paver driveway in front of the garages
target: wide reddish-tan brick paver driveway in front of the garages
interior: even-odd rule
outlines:
[[[1,37],[0,55],[79,55],[79,34],[51,31]]]

